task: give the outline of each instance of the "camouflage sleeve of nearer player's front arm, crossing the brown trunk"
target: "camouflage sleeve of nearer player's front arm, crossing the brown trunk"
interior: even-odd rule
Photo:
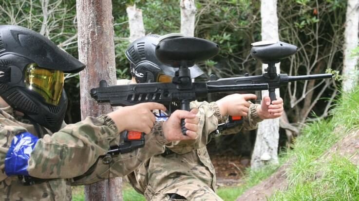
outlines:
[[[71,185],[93,184],[103,179],[113,177],[122,177],[134,169],[138,168],[142,163],[148,161],[152,156],[161,154],[165,151],[166,140],[162,132],[163,121],[155,122],[150,134],[145,135],[145,146],[129,153],[123,153],[112,156],[110,163],[104,163],[100,158],[94,167],[84,175],[74,178]],[[118,142],[118,139],[112,143]]]

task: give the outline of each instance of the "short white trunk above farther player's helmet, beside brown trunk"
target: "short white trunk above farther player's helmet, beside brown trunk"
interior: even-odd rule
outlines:
[[[129,6],[126,9],[127,16],[129,17],[130,26],[130,38],[129,41],[132,43],[137,38],[145,36],[145,27],[143,25],[142,10],[136,9],[136,4]]]

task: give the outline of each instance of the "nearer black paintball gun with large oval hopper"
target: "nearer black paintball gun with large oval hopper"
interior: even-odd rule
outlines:
[[[179,103],[180,109],[189,111],[189,102],[207,98],[208,93],[244,92],[268,89],[268,84],[221,84],[221,81],[192,82],[189,67],[215,56],[218,45],[211,41],[184,36],[163,38],[156,46],[157,59],[178,70],[171,83],[144,83],[108,86],[100,81],[98,88],[91,89],[91,96],[97,102],[108,102],[112,106],[133,105],[141,102],[159,102],[170,109],[171,103]],[[171,111],[170,111],[171,112]],[[181,122],[186,134],[185,123]]]

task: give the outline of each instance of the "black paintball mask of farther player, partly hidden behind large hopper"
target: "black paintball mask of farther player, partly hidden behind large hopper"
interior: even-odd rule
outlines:
[[[125,55],[131,62],[130,70],[136,83],[171,82],[178,68],[167,66],[158,61],[155,48],[160,35],[150,34],[133,41],[126,49]],[[203,74],[197,66],[189,67],[191,78]]]

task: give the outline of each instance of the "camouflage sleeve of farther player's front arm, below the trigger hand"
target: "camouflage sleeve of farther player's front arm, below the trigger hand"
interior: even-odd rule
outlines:
[[[249,106],[248,116],[243,118],[244,122],[242,125],[222,131],[220,134],[221,135],[236,134],[236,133],[239,133],[243,128],[246,129],[247,131],[256,129],[258,126],[258,123],[263,121],[263,119],[258,117],[258,113],[257,113],[258,105],[259,104],[251,103],[251,105]],[[227,119],[228,119],[228,116],[223,117],[223,122],[226,121]]]

